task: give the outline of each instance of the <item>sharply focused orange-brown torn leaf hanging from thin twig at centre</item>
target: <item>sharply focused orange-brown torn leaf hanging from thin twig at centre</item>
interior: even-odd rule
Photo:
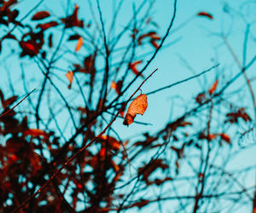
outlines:
[[[133,123],[134,118],[137,114],[143,115],[148,107],[147,95],[138,95],[135,100],[131,102],[127,113],[125,115],[124,125],[130,125]]]

